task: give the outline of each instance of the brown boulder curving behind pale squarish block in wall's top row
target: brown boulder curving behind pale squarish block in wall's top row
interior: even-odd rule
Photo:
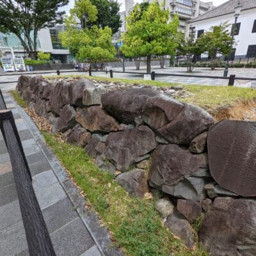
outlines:
[[[68,87],[70,105],[83,108],[83,92],[89,88],[95,88],[95,85],[88,79],[79,79],[70,83]]]

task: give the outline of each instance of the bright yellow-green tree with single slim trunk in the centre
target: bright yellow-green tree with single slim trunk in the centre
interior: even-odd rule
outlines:
[[[134,13],[132,14],[134,15]],[[178,46],[179,17],[169,22],[170,11],[161,9],[157,1],[150,4],[141,19],[127,18],[127,31],[122,35],[125,56],[147,56],[147,73],[151,72],[151,56],[174,54]]]

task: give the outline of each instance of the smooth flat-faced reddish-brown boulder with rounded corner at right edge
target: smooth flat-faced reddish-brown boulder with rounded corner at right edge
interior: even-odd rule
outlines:
[[[256,196],[256,122],[224,120],[207,138],[211,175],[221,188]]]

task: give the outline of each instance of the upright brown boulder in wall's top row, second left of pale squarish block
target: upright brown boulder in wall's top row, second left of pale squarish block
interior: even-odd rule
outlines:
[[[55,84],[52,90],[51,97],[51,108],[52,111],[58,113],[58,109],[63,108],[63,106],[69,104],[69,95],[68,95],[68,87],[70,83],[60,81]]]

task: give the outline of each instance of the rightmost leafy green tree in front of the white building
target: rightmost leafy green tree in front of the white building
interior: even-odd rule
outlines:
[[[227,23],[219,26],[212,26],[209,31],[198,38],[198,44],[203,52],[208,52],[211,58],[211,69],[215,69],[215,61],[217,54],[228,56],[232,52],[232,35],[228,29],[230,25]]]

